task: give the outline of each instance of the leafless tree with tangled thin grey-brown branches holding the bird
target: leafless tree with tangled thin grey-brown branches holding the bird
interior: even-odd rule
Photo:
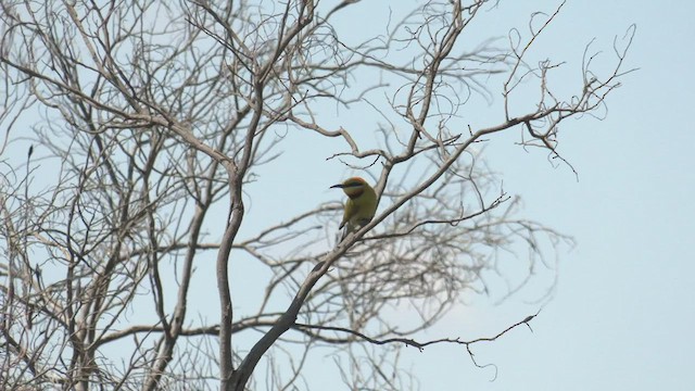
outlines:
[[[2,2],[3,389],[309,388],[302,368],[329,346],[351,389],[401,390],[413,386],[397,370],[401,346],[470,349],[531,320],[468,341],[415,339],[485,291],[505,251],[527,245],[532,268],[569,240],[518,218],[473,147],[521,130],[522,146],[561,161],[559,123],[601,115],[634,28],[616,40],[608,74],[594,73],[586,47],[583,84],[563,98],[548,84],[560,63],[527,60],[561,4],[506,42],[475,45],[463,33],[494,1],[416,4],[355,42],[341,17],[357,4]],[[472,127],[464,108],[492,79],[503,112]],[[526,112],[514,101],[521,85],[538,90]],[[365,108],[382,121],[357,131]],[[332,202],[242,229],[262,167],[296,148],[282,147],[288,137],[371,175],[370,224],[330,245]],[[317,138],[342,147],[312,150]],[[197,273],[211,262],[213,319],[191,288],[212,281]],[[248,265],[264,277],[247,277]],[[240,278],[265,280],[232,295]],[[412,324],[390,316],[403,307]]]

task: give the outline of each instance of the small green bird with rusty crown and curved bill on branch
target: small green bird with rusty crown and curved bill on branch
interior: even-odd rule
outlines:
[[[345,227],[341,241],[350,234],[367,225],[377,212],[377,193],[364,179],[353,177],[342,184],[333,185],[332,188],[343,189],[348,195],[343,220],[340,228]]]

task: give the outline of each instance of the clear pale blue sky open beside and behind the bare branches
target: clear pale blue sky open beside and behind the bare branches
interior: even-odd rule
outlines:
[[[345,20],[348,27],[361,26],[357,34],[366,30],[363,26],[383,24],[383,3],[354,5],[348,13],[352,16]],[[525,28],[531,12],[553,12],[557,4],[559,1],[503,0],[491,16],[481,17],[486,22],[471,26],[471,31],[486,37],[504,35],[509,26]],[[492,368],[476,368],[458,346],[438,345],[421,353],[406,349],[403,363],[419,378],[421,390],[695,387],[688,373],[695,362],[693,15],[695,3],[691,1],[568,0],[558,20],[539,39],[532,55],[566,61],[567,73],[563,75],[567,78],[555,83],[569,89],[579,81],[577,70],[584,45],[595,37],[596,48],[610,61],[614,37],[621,37],[635,23],[637,31],[627,65],[640,71],[627,75],[623,86],[609,96],[604,121],[585,117],[563,124],[560,151],[579,173],[579,181],[566,166],[553,167],[544,153],[527,153],[513,146],[514,136],[490,142],[483,156],[502,174],[505,190],[522,198],[520,215],[573,236],[577,247],[560,252],[555,294],[531,323],[533,332],[520,327],[495,342],[472,348],[480,364],[497,366],[494,381],[490,381]],[[500,94],[492,92],[498,103]],[[490,124],[476,114],[467,113],[472,123]],[[345,121],[334,118],[338,125]],[[350,121],[358,125],[354,117]],[[277,211],[278,197],[285,194],[301,195],[291,202],[282,199],[288,207],[273,212],[287,217],[340,199],[327,187],[348,174],[344,167],[337,161],[326,162],[325,154],[293,148],[292,142],[298,141],[288,134],[287,147],[281,147],[286,151],[282,161],[293,164],[262,169],[264,181],[287,191],[250,200],[252,215]],[[333,141],[330,144],[337,146]],[[24,151],[20,151],[22,159]],[[312,168],[311,175],[296,175],[306,167]],[[255,186],[263,185],[252,184],[249,191]],[[298,189],[303,192],[290,191]],[[199,275],[212,273],[199,265]],[[248,278],[255,270],[245,267],[232,290],[237,298],[255,291],[260,300],[257,281]],[[553,276],[543,278],[552,280]],[[210,303],[210,308],[201,304],[197,310],[214,318],[217,304],[212,298],[216,290],[211,281],[194,281],[194,294],[200,297],[198,303]],[[500,305],[492,304],[495,298],[471,298],[471,306],[457,308],[421,337],[469,340],[492,336],[535,313],[539,304],[528,303],[531,297],[521,292]],[[242,305],[243,300],[236,304]],[[235,342],[248,345],[257,338],[245,336],[247,341],[242,335]],[[320,377],[328,374],[318,364],[320,358],[304,375],[324,389],[334,389],[334,376]]]

